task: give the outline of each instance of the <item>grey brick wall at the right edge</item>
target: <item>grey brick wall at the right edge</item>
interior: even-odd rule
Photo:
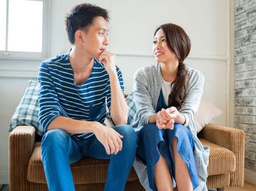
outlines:
[[[235,0],[235,127],[245,130],[245,168],[256,173],[256,0]]]

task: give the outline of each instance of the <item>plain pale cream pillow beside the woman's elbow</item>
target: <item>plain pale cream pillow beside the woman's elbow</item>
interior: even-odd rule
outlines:
[[[195,115],[197,133],[199,133],[206,124],[209,124],[210,121],[213,121],[222,113],[223,111],[202,97],[198,111]]]

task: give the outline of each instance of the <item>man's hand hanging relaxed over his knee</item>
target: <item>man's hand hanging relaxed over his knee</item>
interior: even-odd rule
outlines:
[[[108,155],[116,155],[119,151],[122,150],[121,138],[123,138],[123,136],[120,135],[117,131],[114,131],[114,129],[98,123],[94,133],[97,140],[99,140],[100,143],[102,143],[102,145],[105,147],[106,153]]]

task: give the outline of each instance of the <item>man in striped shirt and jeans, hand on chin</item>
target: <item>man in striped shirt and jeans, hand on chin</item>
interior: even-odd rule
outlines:
[[[75,6],[65,19],[69,53],[41,63],[39,121],[46,133],[42,160],[49,190],[75,190],[70,163],[110,158],[105,190],[124,190],[137,148],[127,124],[122,73],[107,51],[109,16],[91,4]],[[105,126],[106,105],[114,129]]]

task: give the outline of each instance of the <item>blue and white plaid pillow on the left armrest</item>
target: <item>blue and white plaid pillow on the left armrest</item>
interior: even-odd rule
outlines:
[[[36,133],[40,136],[43,135],[43,127],[38,121],[38,89],[39,84],[35,80],[28,80],[28,86],[25,89],[21,102],[11,116],[9,131],[12,131],[16,126],[34,126]]]

